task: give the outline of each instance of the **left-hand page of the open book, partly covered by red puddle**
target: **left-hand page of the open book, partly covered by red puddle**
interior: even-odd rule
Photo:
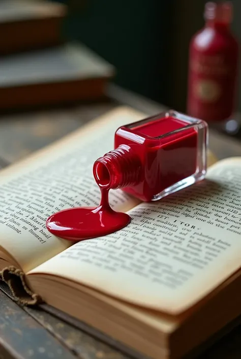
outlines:
[[[97,206],[94,161],[113,149],[115,130],[139,120],[139,114],[120,107],[65,140],[1,171],[0,245],[27,271],[65,250],[72,242],[51,235],[45,221],[56,211]],[[139,201],[120,190],[110,192],[110,204],[122,211]]]

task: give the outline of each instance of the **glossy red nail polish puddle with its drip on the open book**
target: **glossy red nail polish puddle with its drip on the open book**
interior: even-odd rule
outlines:
[[[109,205],[109,188],[101,188],[98,207],[77,207],[52,214],[46,221],[48,231],[60,238],[80,241],[116,232],[126,227],[131,217],[115,212]]]

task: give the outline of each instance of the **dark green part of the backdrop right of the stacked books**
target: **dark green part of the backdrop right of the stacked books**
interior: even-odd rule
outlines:
[[[166,56],[172,1],[70,0],[63,26],[67,39],[77,39],[116,67],[115,82],[167,103]]]

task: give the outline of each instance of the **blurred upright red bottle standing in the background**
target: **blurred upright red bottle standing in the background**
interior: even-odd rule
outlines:
[[[235,107],[238,43],[229,29],[232,4],[207,3],[204,17],[204,28],[190,43],[187,112],[217,124]]]

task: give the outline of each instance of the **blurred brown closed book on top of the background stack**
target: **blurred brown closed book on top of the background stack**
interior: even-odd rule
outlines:
[[[50,1],[0,1],[0,54],[56,45],[66,6]]]

